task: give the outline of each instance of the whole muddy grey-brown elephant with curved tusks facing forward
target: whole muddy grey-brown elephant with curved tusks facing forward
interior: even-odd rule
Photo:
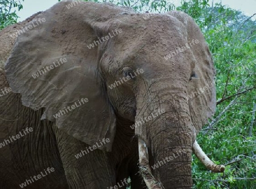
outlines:
[[[191,188],[192,150],[224,170],[196,142],[216,110],[203,33],[145,15],[62,1],[0,32],[1,188]]]

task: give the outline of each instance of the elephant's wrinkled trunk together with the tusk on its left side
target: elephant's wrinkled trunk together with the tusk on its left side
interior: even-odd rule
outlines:
[[[135,129],[139,137],[141,173],[148,188],[191,188],[193,185],[191,159],[195,129],[187,100],[172,97],[160,103],[160,109],[164,109],[161,115]],[[157,106],[159,109],[159,104]],[[155,110],[155,106],[151,107]],[[152,115],[152,110],[147,114]],[[135,122],[138,117],[141,119],[136,116]]]

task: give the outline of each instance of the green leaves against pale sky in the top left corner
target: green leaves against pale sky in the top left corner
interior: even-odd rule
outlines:
[[[24,1],[24,0],[22,0]],[[17,22],[18,15],[13,8],[22,9],[20,1],[15,0],[0,0],[0,30]]]

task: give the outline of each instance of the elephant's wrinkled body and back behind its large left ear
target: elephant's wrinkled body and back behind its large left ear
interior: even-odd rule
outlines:
[[[39,12],[40,13],[40,12]],[[38,14],[39,14],[38,13]],[[0,90],[9,88],[3,63],[11,53],[16,37],[11,37],[38,14],[21,23],[0,31]],[[54,167],[51,177],[43,177],[26,188],[68,188],[67,179],[61,162],[55,137],[56,129],[48,120],[40,120],[43,109],[34,111],[22,105],[20,94],[9,92],[0,96],[0,142],[16,136],[23,129],[32,128],[33,132],[13,140],[0,148],[0,188],[20,188],[19,184],[30,179],[47,167]],[[24,133],[23,133],[24,134]]]

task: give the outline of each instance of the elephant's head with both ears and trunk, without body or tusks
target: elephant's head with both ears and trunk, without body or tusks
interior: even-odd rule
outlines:
[[[18,33],[5,65],[14,93],[86,144],[109,138],[100,148],[108,152],[117,121],[133,121],[150,165],[173,157],[152,169],[154,177],[165,188],[191,187],[192,145],[216,106],[200,28],[179,11],[144,19],[109,3],[71,3]]]

